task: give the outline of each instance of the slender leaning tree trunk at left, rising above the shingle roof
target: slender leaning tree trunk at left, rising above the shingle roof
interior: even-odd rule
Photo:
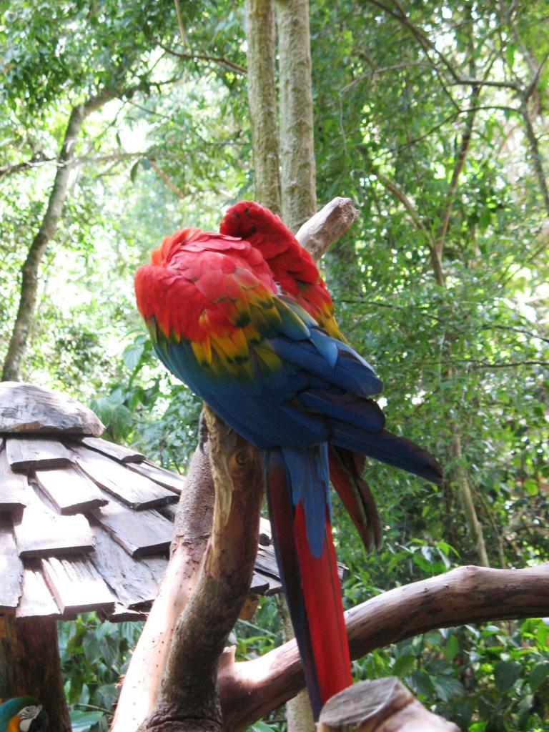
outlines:
[[[21,362],[25,355],[29,332],[34,321],[40,262],[48,243],[55,234],[57,223],[61,217],[64,199],[67,195],[70,171],[75,159],[76,141],[83,121],[91,112],[99,109],[112,97],[111,92],[103,91],[97,97],[91,97],[84,104],[74,107],[70,113],[61,152],[59,152],[57,159],[57,171],[51,189],[50,200],[48,201],[48,208],[42,219],[42,224],[36,236],[34,236],[21,270],[19,308],[4,361],[2,381],[19,381],[20,378]]]

